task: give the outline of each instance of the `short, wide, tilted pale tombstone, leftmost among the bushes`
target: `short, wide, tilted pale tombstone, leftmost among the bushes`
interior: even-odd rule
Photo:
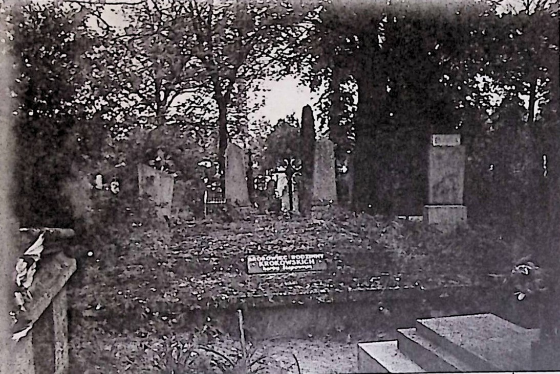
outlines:
[[[160,218],[171,215],[174,184],[174,178],[170,174],[138,164],[138,192],[140,196],[150,196]]]

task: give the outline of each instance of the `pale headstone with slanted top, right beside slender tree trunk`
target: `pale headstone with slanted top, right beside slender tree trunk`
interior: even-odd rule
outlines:
[[[249,191],[246,179],[247,158],[238,145],[226,148],[226,200],[237,206],[249,206]]]

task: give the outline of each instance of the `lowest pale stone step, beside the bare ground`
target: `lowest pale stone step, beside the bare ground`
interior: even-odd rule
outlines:
[[[396,340],[358,343],[358,373],[423,373],[398,349]]]

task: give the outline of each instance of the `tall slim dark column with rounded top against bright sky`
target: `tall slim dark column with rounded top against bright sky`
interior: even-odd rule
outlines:
[[[301,188],[300,212],[308,216],[313,198],[313,172],[315,169],[315,120],[309,105],[301,114]]]

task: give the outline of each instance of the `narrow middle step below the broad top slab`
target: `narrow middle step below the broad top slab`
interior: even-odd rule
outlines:
[[[430,372],[469,372],[472,367],[417,333],[416,328],[397,329],[399,351]]]

